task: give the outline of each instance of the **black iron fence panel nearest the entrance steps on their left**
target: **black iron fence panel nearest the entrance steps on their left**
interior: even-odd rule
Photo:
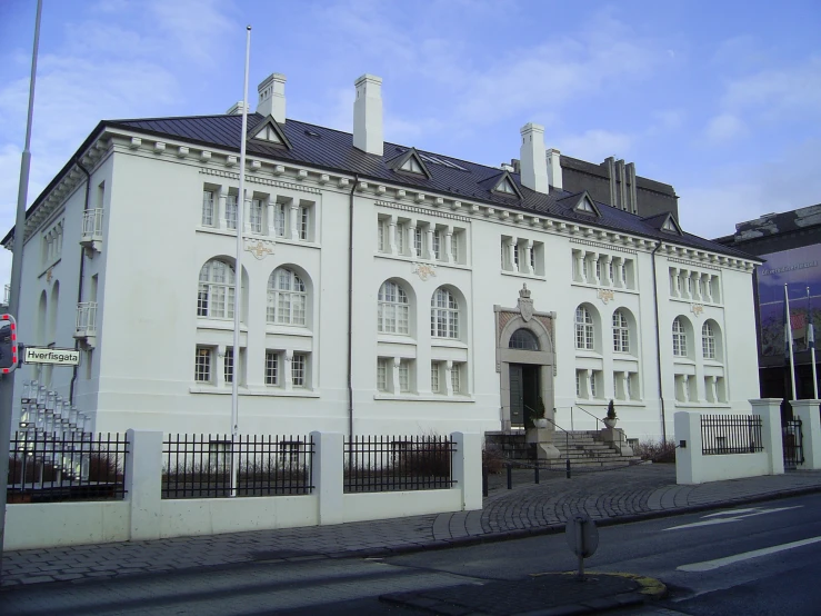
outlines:
[[[354,437],[344,441],[344,491],[450,488],[454,453],[448,437]]]

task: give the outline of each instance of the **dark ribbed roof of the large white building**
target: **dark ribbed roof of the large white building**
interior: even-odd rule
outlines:
[[[248,131],[253,129],[266,118],[259,113],[250,113],[248,116]],[[227,150],[239,152],[240,133],[242,131],[242,116],[189,116],[179,118],[151,118],[151,119],[130,119],[130,120],[104,120],[98,125],[94,131],[89,136],[83,148],[94,138],[99,131],[106,127],[121,128],[133,130],[142,133],[157,136],[160,138],[179,138],[192,143],[206,147],[219,147]],[[384,155],[374,156],[366,153],[353,147],[353,136],[350,132],[309,125],[297,120],[287,120],[280,125],[287,136],[291,149],[267,145],[257,140],[247,141],[247,152],[252,157],[276,159],[279,161],[292,161],[318,169],[329,171],[341,171],[344,173],[358,173],[364,181],[382,180],[399,186],[411,187],[417,190],[424,190],[438,193],[447,193],[453,198],[462,198],[489,205],[498,205],[507,208],[520,209],[533,213],[548,215],[569,222],[578,222],[580,225],[595,225],[617,232],[633,234],[637,236],[661,239],[670,241],[673,239],[675,244],[699,248],[702,250],[712,250],[715,252],[731,255],[739,258],[754,258],[740,250],[712,242],[710,240],[690,235],[682,234],[675,238],[671,238],[669,234],[662,234],[654,229],[651,225],[642,221],[638,216],[623,211],[621,209],[611,208],[607,203],[597,202],[600,217],[591,218],[583,213],[573,211],[569,205],[571,201],[558,202],[570,196],[568,191],[555,190],[551,188],[550,195],[543,195],[525,188],[521,185],[519,173],[509,173],[510,178],[519,188],[523,199],[505,197],[499,192],[493,192],[495,186],[492,179],[498,179],[503,171],[495,167],[477,165],[467,160],[455,159],[443,155],[417,150],[422,157],[425,155],[444,160],[460,168],[450,167],[441,163],[428,162],[427,168],[431,173],[430,178],[414,176],[394,171],[388,161],[396,158],[410,148],[397,143],[384,143]],[[58,175],[58,178],[70,168],[69,162]],[[51,186],[58,180],[54,178],[51,185],[38,197],[34,205],[29,208],[28,215],[37,207]],[[3,242],[8,241],[12,236],[10,231]]]

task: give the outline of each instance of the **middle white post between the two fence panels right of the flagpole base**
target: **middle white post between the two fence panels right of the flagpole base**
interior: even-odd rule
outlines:
[[[311,433],[313,453],[313,486],[319,497],[319,524],[344,521],[344,435]]]

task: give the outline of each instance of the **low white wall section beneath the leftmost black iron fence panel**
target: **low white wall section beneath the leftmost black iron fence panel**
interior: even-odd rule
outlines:
[[[4,549],[126,542],[127,501],[29,503],[6,506]]]

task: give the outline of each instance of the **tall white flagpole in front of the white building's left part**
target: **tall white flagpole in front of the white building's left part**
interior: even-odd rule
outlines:
[[[237,197],[237,262],[233,294],[233,374],[231,378],[231,496],[237,496],[239,455],[234,454],[239,434],[240,309],[242,299],[242,232],[246,228],[246,131],[248,130],[248,67],[251,61],[251,27],[246,29],[246,77],[242,86],[242,133],[240,136],[240,193]]]

